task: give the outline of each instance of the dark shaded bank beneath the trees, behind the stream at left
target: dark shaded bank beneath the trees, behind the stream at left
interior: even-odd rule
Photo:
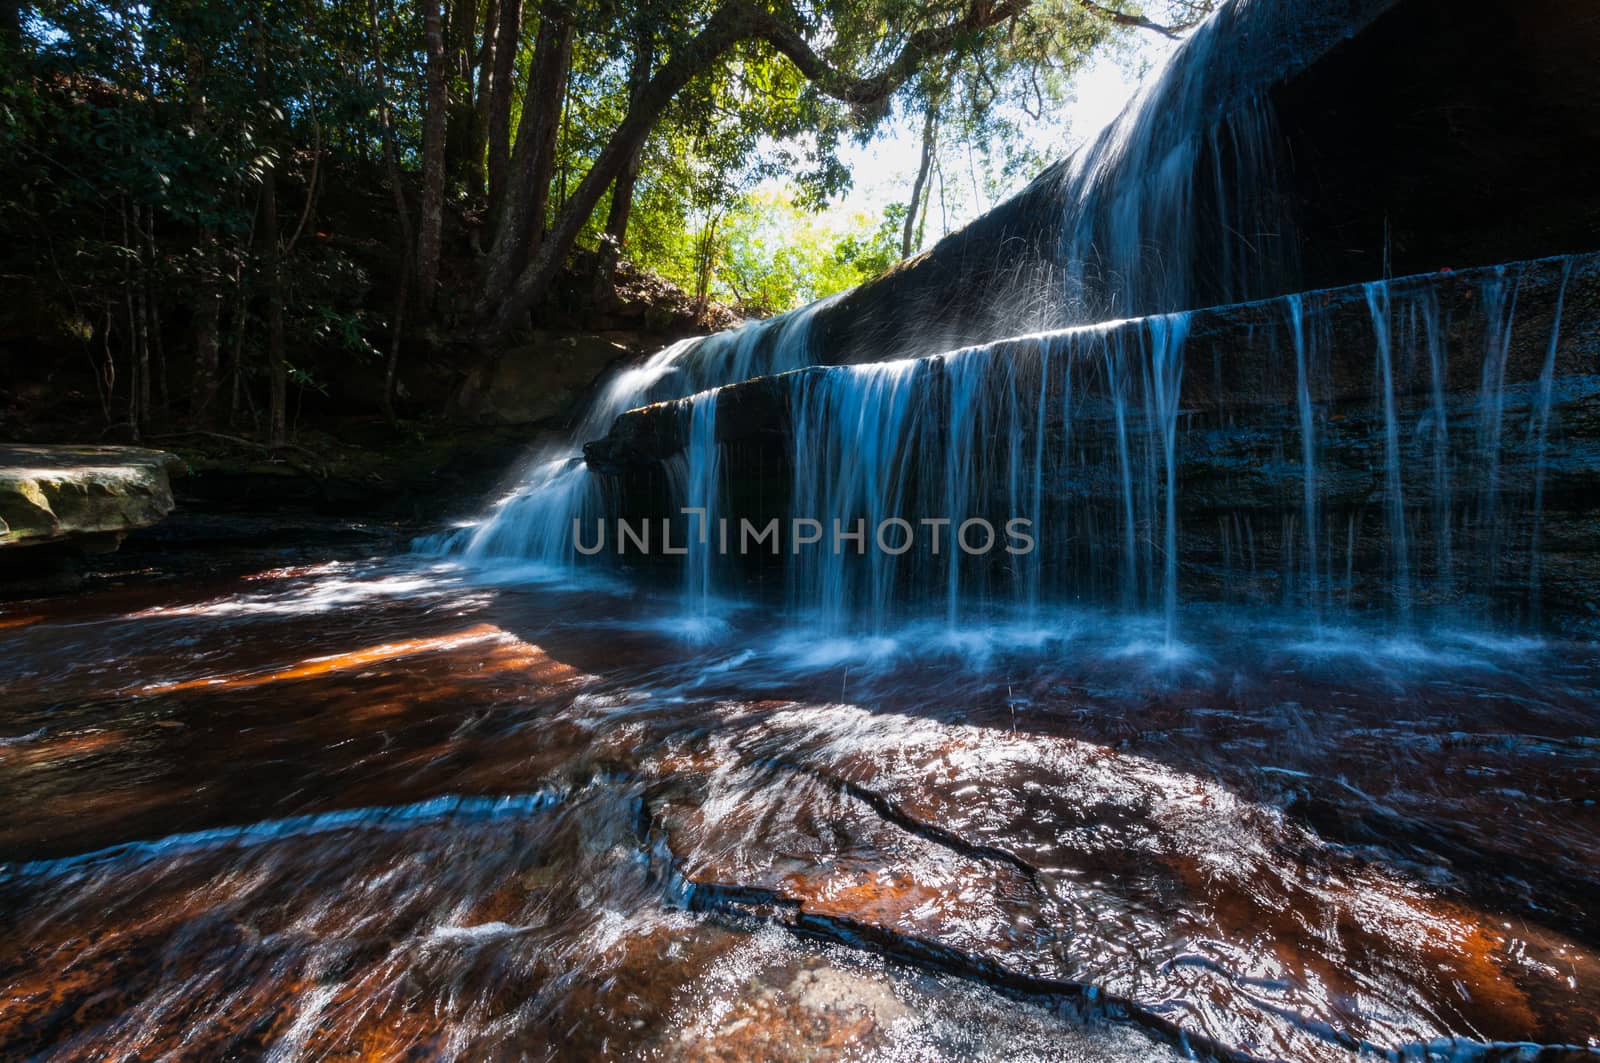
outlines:
[[[432,509],[442,493],[486,490],[538,432],[579,408],[610,368],[739,320],[627,261],[597,283],[595,256],[581,253],[539,307],[539,328],[510,343],[472,343],[472,307],[442,299],[432,320],[405,330],[386,410],[387,314],[402,269],[392,205],[382,176],[360,163],[318,174],[322,183],[320,191],[285,189],[285,199],[298,194],[309,210],[299,237],[307,267],[288,285],[306,306],[290,317],[283,443],[269,442],[269,383],[248,299],[232,322],[221,322],[214,408],[197,416],[195,394],[206,383],[197,379],[194,343],[205,323],[181,263],[158,251],[141,287],[147,303],[107,298],[96,307],[99,320],[85,320],[69,301],[0,303],[8,363],[0,439],[170,450],[190,467],[178,490],[197,501],[422,517],[416,506]],[[442,291],[470,290],[480,226],[480,215],[446,215]],[[150,245],[160,243],[157,229]],[[66,283],[59,290],[70,291]],[[146,347],[147,365],[130,367],[128,347]]]

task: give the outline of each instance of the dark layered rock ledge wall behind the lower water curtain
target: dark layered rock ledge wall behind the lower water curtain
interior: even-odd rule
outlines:
[[[694,411],[714,402],[731,522],[1032,519],[1048,568],[974,564],[973,599],[1160,600],[1170,483],[1184,602],[1309,616],[1488,599],[1582,626],[1600,580],[1597,378],[1600,263],[1579,256],[758,378],[627,413],[586,459],[608,514],[675,514]],[[851,463],[875,487],[840,479]],[[970,482],[952,495],[952,477]],[[798,564],[757,551],[728,567],[765,580]],[[946,589],[930,557],[890,578],[901,597]]]

